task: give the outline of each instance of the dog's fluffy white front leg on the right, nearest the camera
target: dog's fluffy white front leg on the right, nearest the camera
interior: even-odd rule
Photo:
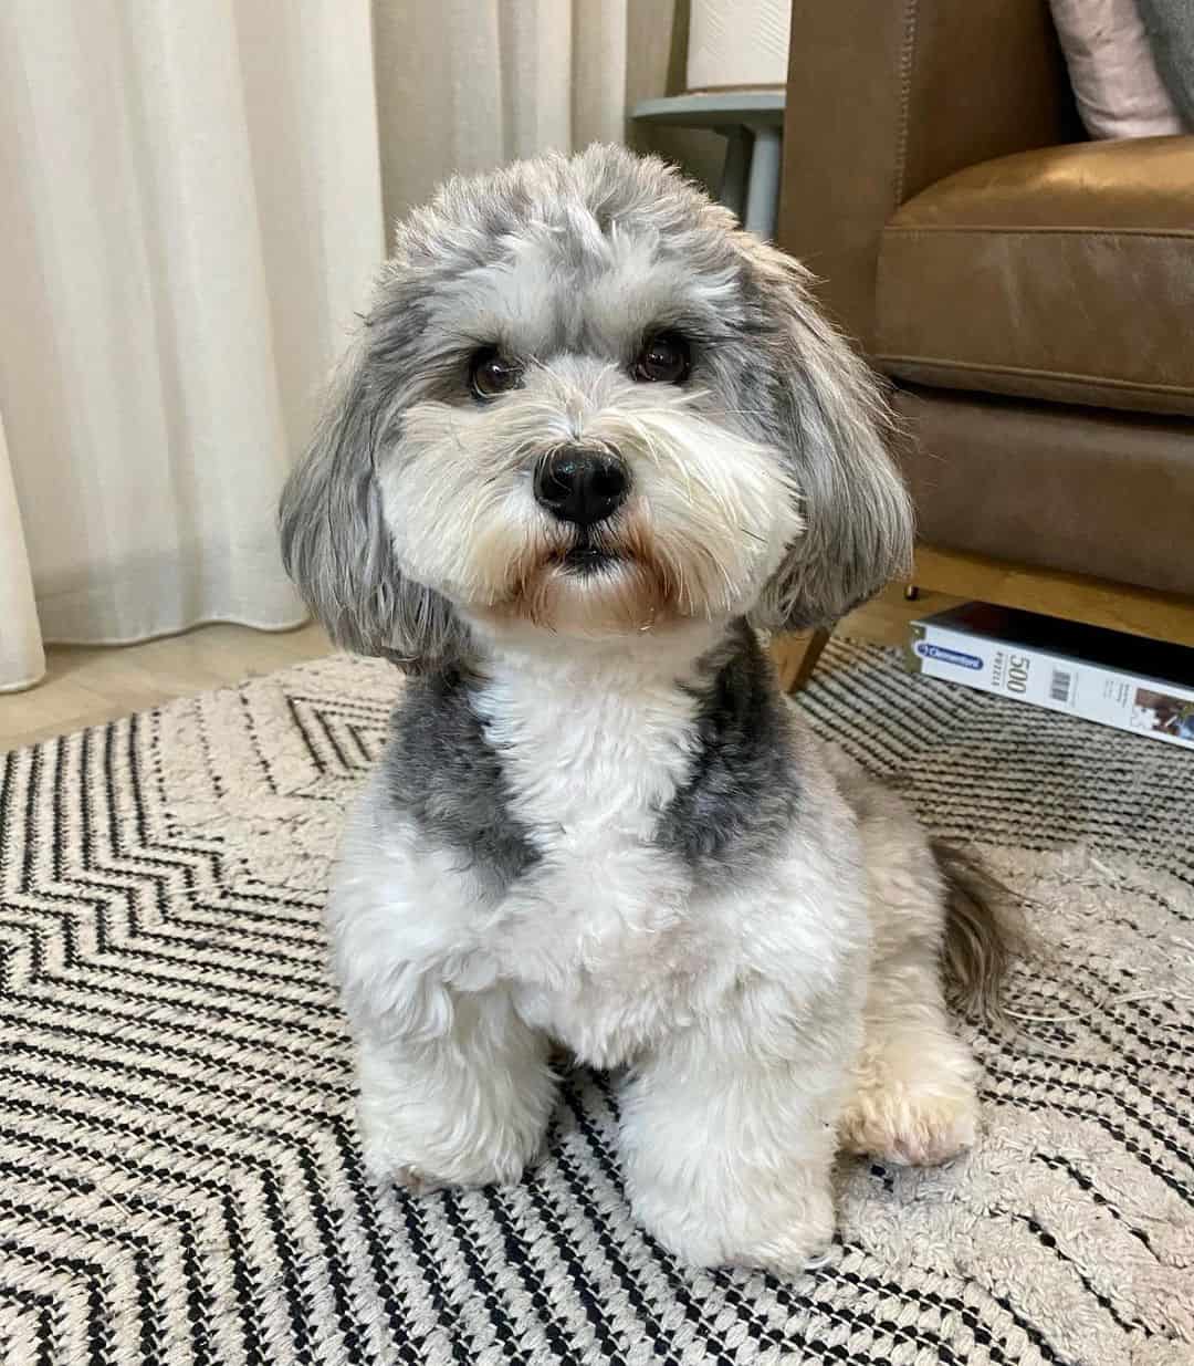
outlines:
[[[746,989],[628,1076],[634,1213],[684,1262],[795,1274],[829,1244],[835,1123],[858,1031],[837,1003],[802,1016],[775,988]]]

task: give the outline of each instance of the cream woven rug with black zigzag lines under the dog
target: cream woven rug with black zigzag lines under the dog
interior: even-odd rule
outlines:
[[[829,649],[813,725],[1040,944],[970,1030],[978,1147],[843,1162],[783,1284],[635,1228],[583,1071],[520,1186],[366,1184],[318,917],[396,686],[329,658],[0,759],[5,1362],[1194,1362],[1194,755]]]

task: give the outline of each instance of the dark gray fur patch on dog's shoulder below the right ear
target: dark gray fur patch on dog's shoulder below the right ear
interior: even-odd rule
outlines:
[[[787,837],[801,795],[791,724],[770,663],[745,622],[705,661],[693,773],[660,816],[656,843],[706,881],[750,872]]]

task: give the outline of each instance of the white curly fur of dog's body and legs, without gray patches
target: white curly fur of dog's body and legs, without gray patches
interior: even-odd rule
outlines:
[[[695,888],[649,843],[691,758],[679,664],[654,641],[495,653],[492,734],[548,832],[504,896],[395,820],[374,776],[328,904],[366,1160],[415,1187],[516,1180],[563,1042],[627,1068],[637,1217],[689,1262],[792,1273],[832,1235],[839,1143],[939,1162],[974,1141],[941,880],[903,803],[798,729],[787,847],[765,880]]]

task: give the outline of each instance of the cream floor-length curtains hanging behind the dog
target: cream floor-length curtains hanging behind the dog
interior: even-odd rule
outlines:
[[[275,505],[383,191],[392,221],[454,169],[623,139],[686,12],[3,0],[0,690],[42,642],[301,622]]]

